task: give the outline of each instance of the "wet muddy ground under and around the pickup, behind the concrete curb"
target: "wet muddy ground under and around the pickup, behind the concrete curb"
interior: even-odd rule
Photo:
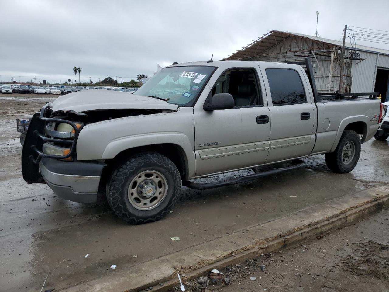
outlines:
[[[49,271],[47,285],[60,290],[389,181],[388,142],[373,139],[349,174],[330,172],[323,155],[310,157],[306,169],[266,179],[205,191],[183,187],[163,220],[128,225],[104,201],[69,202],[23,181],[15,116],[54,98],[0,95],[0,291],[37,291]]]

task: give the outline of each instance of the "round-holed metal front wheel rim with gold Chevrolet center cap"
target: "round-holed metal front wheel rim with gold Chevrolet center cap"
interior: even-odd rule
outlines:
[[[138,173],[128,186],[128,201],[142,211],[154,209],[161,204],[168,192],[168,184],[161,172],[148,170]]]

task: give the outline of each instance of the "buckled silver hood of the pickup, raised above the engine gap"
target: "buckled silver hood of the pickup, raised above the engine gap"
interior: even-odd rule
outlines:
[[[110,91],[103,89],[89,89],[68,93],[54,100],[50,109],[55,111],[94,111],[100,109],[166,109],[176,110],[175,104],[142,95]]]

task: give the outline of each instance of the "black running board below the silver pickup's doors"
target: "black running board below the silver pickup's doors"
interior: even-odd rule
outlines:
[[[265,176],[271,176],[279,174],[281,172],[299,169],[307,166],[307,164],[302,160],[293,160],[291,162],[293,163],[293,165],[249,174],[247,176],[240,176],[237,178],[229,179],[227,181],[214,181],[212,183],[194,183],[193,181],[184,181],[183,185],[187,186],[188,188],[193,188],[195,190],[209,190],[210,188],[220,188],[221,186],[235,185],[236,183],[245,183],[246,181],[252,181],[257,178],[263,178]]]

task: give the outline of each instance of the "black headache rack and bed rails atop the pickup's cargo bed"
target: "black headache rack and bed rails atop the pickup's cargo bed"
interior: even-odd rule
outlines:
[[[304,58],[304,61],[297,62],[287,62],[288,64],[296,64],[300,66],[305,66],[305,73],[307,73],[309,83],[312,87],[312,92],[314,94],[315,101],[325,101],[325,100],[349,100],[349,99],[358,99],[358,98],[377,98],[378,92],[361,92],[361,93],[339,93],[339,90],[336,93],[326,92],[326,93],[317,93],[314,71],[312,69],[312,64],[308,58]]]

